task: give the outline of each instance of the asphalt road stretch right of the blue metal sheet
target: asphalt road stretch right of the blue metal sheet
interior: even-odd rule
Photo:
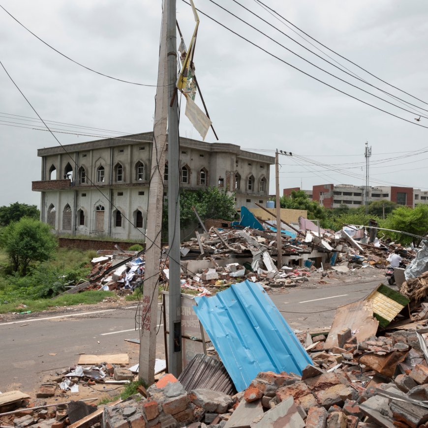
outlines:
[[[271,295],[271,299],[292,329],[321,331],[327,327],[328,330],[338,306],[367,296],[382,279],[291,288],[286,294]]]

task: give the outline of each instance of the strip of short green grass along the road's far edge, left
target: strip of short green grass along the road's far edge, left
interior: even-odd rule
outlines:
[[[6,312],[40,312],[61,306],[94,305],[106,297],[116,297],[112,291],[91,290],[77,294],[65,294],[54,299],[23,299],[0,305],[0,313]],[[26,305],[26,307],[23,307]]]

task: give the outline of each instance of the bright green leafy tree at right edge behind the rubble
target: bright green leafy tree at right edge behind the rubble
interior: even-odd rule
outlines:
[[[412,233],[414,235],[426,236],[428,233],[428,206],[417,205],[415,208],[398,207],[385,220],[381,226],[387,229],[400,230],[402,232]],[[403,245],[409,245],[411,242],[419,242],[418,238],[384,231],[395,242]]]

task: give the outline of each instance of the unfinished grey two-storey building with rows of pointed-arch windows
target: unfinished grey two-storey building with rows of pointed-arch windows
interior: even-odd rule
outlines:
[[[39,149],[41,180],[32,190],[41,192],[41,221],[58,234],[144,241],[152,142],[147,132]],[[237,207],[269,199],[272,156],[180,138],[179,162],[183,189],[217,186],[235,192]],[[171,179],[166,163],[165,186]]]

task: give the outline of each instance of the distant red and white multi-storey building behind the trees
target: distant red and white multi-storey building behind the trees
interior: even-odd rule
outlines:
[[[284,195],[290,195],[292,190],[300,190],[293,187],[283,190]],[[365,186],[352,184],[318,184],[312,190],[304,190],[310,199],[319,202],[325,208],[338,208],[347,205],[350,208],[358,208],[373,201],[393,201],[398,205],[414,207],[418,204],[428,204],[428,192],[413,187],[377,186],[368,187],[367,195]]]

